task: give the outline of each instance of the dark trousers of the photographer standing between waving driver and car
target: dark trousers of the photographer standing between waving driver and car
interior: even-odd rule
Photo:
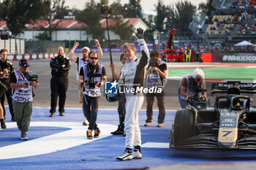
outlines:
[[[147,119],[146,123],[151,123],[153,119],[153,103],[154,103],[154,96],[157,97],[157,106],[159,109],[159,115],[157,118],[157,122],[164,123],[165,121],[165,92],[162,90],[162,93],[146,93],[146,101],[147,101]]]

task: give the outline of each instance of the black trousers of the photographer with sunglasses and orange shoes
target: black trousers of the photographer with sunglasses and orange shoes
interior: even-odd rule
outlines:
[[[99,109],[99,98],[83,95],[83,115],[89,121],[91,131],[97,129],[97,113]]]

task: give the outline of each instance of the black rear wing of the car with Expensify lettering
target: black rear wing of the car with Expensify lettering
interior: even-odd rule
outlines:
[[[256,83],[227,81],[227,82],[214,82],[211,85],[211,95],[214,96],[214,93],[227,93],[227,89],[233,88],[233,87],[237,87],[240,93],[256,93]]]

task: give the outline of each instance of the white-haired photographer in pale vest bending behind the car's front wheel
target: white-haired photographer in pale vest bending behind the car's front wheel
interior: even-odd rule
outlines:
[[[182,109],[186,109],[187,98],[194,95],[195,89],[206,89],[206,81],[204,77],[205,74],[203,73],[203,70],[198,68],[195,69],[192,74],[185,74],[182,77],[178,88],[178,101],[181,104]],[[205,90],[201,91],[199,94],[203,101],[208,101]]]

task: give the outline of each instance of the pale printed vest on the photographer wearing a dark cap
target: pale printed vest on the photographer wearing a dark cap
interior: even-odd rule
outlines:
[[[23,75],[20,69],[12,72],[10,82],[14,82],[18,85],[22,85],[24,82],[28,82],[29,84],[29,81],[26,80],[26,74]],[[15,100],[21,103],[33,101],[32,89],[33,89],[33,86],[30,84],[29,84],[29,88],[12,89],[12,100]]]

